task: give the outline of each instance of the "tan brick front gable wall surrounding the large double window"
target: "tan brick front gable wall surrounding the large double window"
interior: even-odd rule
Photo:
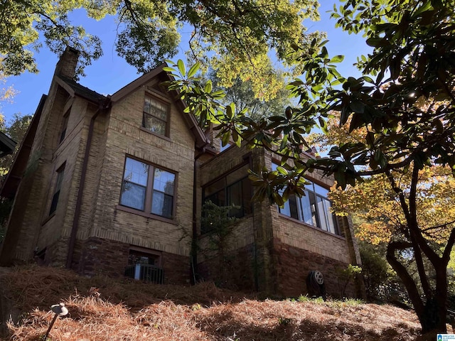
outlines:
[[[140,87],[112,104],[108,129],[100,138],[105,148],[97,157],[102,161],[94,165],[90,176],[87,174],[85,197],[93,207],[92,213],[83,217],[87,228],[82,227],[78,237],[111,239],[188,257],[193,221],[194,137],[172,102],[169,136],[141,129],[145,92],[146,86]],[[173,220],[145,217],[119,207],[127,156],[176,173]]]

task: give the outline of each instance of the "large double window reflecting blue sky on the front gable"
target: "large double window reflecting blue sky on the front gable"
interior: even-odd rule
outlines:
[[[127,158],[120,205],[172,219],[176,175]]]

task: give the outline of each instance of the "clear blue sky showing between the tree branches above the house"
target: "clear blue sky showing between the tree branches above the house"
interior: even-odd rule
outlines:
[[[330,19],[330,15],[326,13],[326,11],[333,9],[334,3],[338,4],[338,1],[321,0],[319,7],[321,21],[305,21],[304,24],[309,32],[327,32],[329,42],[326,46],[329,55],[345,55],[345,60],[340,67],[342,75],[359,75],[353,67],[353,63],[358,56],[368,54],[370,48],[365,44],[365,38],[362,36],[348,35],[341,29],[335,28],[336,22]],[[84,18],[84,13],[80,11],[75,14],[75,19],[82,20],[87,32],[100,36],[104,52],[100,59],[85,69],[86,77],[80,78],[80,84],[101,94],[112,94],[139,77],[134,67],[129,66],[115,53],[114,39],[117,27],[112,18],[95,21]],[[184,44],[182,45],[184,46]],[[184,52],[182,47],[180,54],[173,60],[183,59]],[[1,112],[3,112],[6,121],[9,121],[15,113],[33,114],[41,95],[48,93],[58,58],[46,48],[42,48],[40,53],[36,53],[35,57],[40,70],[38,74],[26,72],[21,76],[10,77],[8,80],[7,84],[13,85],[18,94],[11,104],[4,103],[1,105]]]

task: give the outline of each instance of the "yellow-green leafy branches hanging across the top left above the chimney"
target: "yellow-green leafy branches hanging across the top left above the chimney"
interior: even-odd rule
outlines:
[[[307,36],[302,25],[305,18],[319,18],[318,6],[316,0],[2,1],[1,70],[6,75],[37,72],[33,50],[44,43],[59,55],[66,45],[80,50],[77,71],[83,75],[83,68],[102,55],[100,39],[71,20],[73,10],[85,9],[88,17],[97,20],[115,16],[117,53],[138,72],[176,55],[180,31],[192,28],[188,42],[192,58],[210,63],[226,82],[242,77],[259,89],[276,76],[269,61],[270,49],[279,60],[290,63],[291,45],[307,45],[321,36]],[[269,87],[272,96],[277,90]]]

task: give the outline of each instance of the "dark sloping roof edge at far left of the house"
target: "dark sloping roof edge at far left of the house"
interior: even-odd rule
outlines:
[[[19,183],[21,183],[23,173],[26,171],[28,158],[30,157],[36,130],[38,129],[38,123],[41,119],[41,113],[43,112],[45,99],[47,97],[48,96],[45,94],[41,96],[38,107],[36,108],[36,112],[33,115],[33,118],[31,119],[30,125],[28,126],[25,136],[23,136],[21,146],[19,147],[16,156],[14,157],[11,169],[9,170],[8,174],[6,174],[6,177],[4,178],[3,183],[1,184],[0,188],[1,197],[12,198],[14,197],[14,195],[16,195],[18,185]]]

